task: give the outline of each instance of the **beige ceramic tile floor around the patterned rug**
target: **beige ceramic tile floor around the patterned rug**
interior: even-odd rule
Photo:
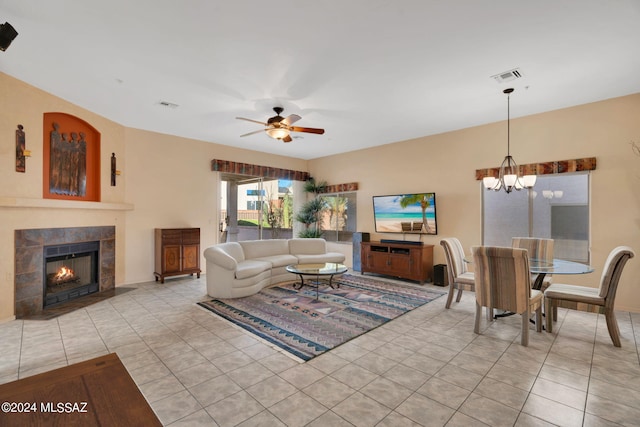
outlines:
[[[622,348],[563,309],[522,347],[519,316],[475,335],[467,292],[299,363],[196,306],[204,278],[134,288],[0,324],[0,383],[116,352],[170,426],[640,425],[640,314],[617,313]]]

